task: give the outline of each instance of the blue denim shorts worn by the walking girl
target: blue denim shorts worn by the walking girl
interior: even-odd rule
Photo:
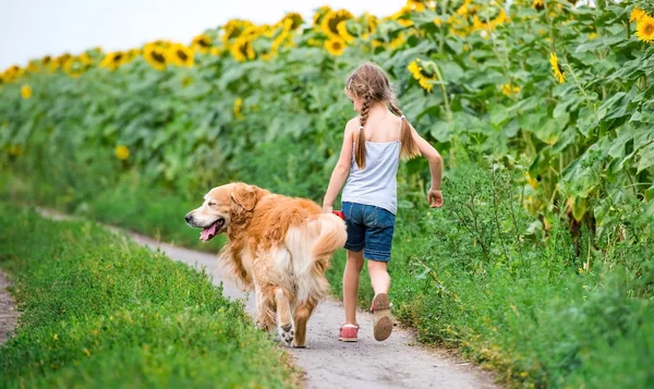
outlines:
[[[344,202],[342,207],[348,227],[346,248],[363,250],[365,259],[389,262],[395,215],[374,205]]]

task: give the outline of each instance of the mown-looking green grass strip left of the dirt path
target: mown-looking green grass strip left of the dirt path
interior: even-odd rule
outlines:
[[[286,354],[204,272],[92,223],[0,203],[23,312],[2,387],[292,387]]]

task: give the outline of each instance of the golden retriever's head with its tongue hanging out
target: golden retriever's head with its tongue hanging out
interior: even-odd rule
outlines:
[[[186,223],[201,228],[199,239],[209,241],[225,232],[244,211],[256,206],[262,192],[254,185],[231,183],[214,187],[204,196],[204,204],[186,214]]]

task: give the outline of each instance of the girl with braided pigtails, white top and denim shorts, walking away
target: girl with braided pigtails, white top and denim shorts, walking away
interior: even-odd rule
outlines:
[[[340,328],[339,340],[358,339],[356,296],[365,258],[375,291],[371,307],[375,314],[374,336],[382,341],[392,331],[387,264],[397,210],[399,159],[417,155],[427,158],[432,171],[427,202],[432,207],[443,205],[443,161],[438,151],[409,124],[398,108],[388,76],[379,66],[371,62],[360,65],[348,77],[346,95],[359,116],[346,126],[340,158],[323,202],[323,211],[331,212],[348,179],[341,198],[348,227],[348,262],[343,273],[346,324]]]

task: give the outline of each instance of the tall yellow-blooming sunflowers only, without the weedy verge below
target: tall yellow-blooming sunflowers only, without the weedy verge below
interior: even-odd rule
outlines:
[[[343,77],[373,60],[449,168],[526,159],[528,207],[602,226],[611,200],[597,199],[654,196],[654,8],[574,3],[408,1],[386,17],[323,7],[311,21],[232,20],[189,44],[48,56],[0,75],[0,163],[112,155],[118,172],[204,189],[283,139],[303,146],[287,168],[322,172],[352,116]]]

